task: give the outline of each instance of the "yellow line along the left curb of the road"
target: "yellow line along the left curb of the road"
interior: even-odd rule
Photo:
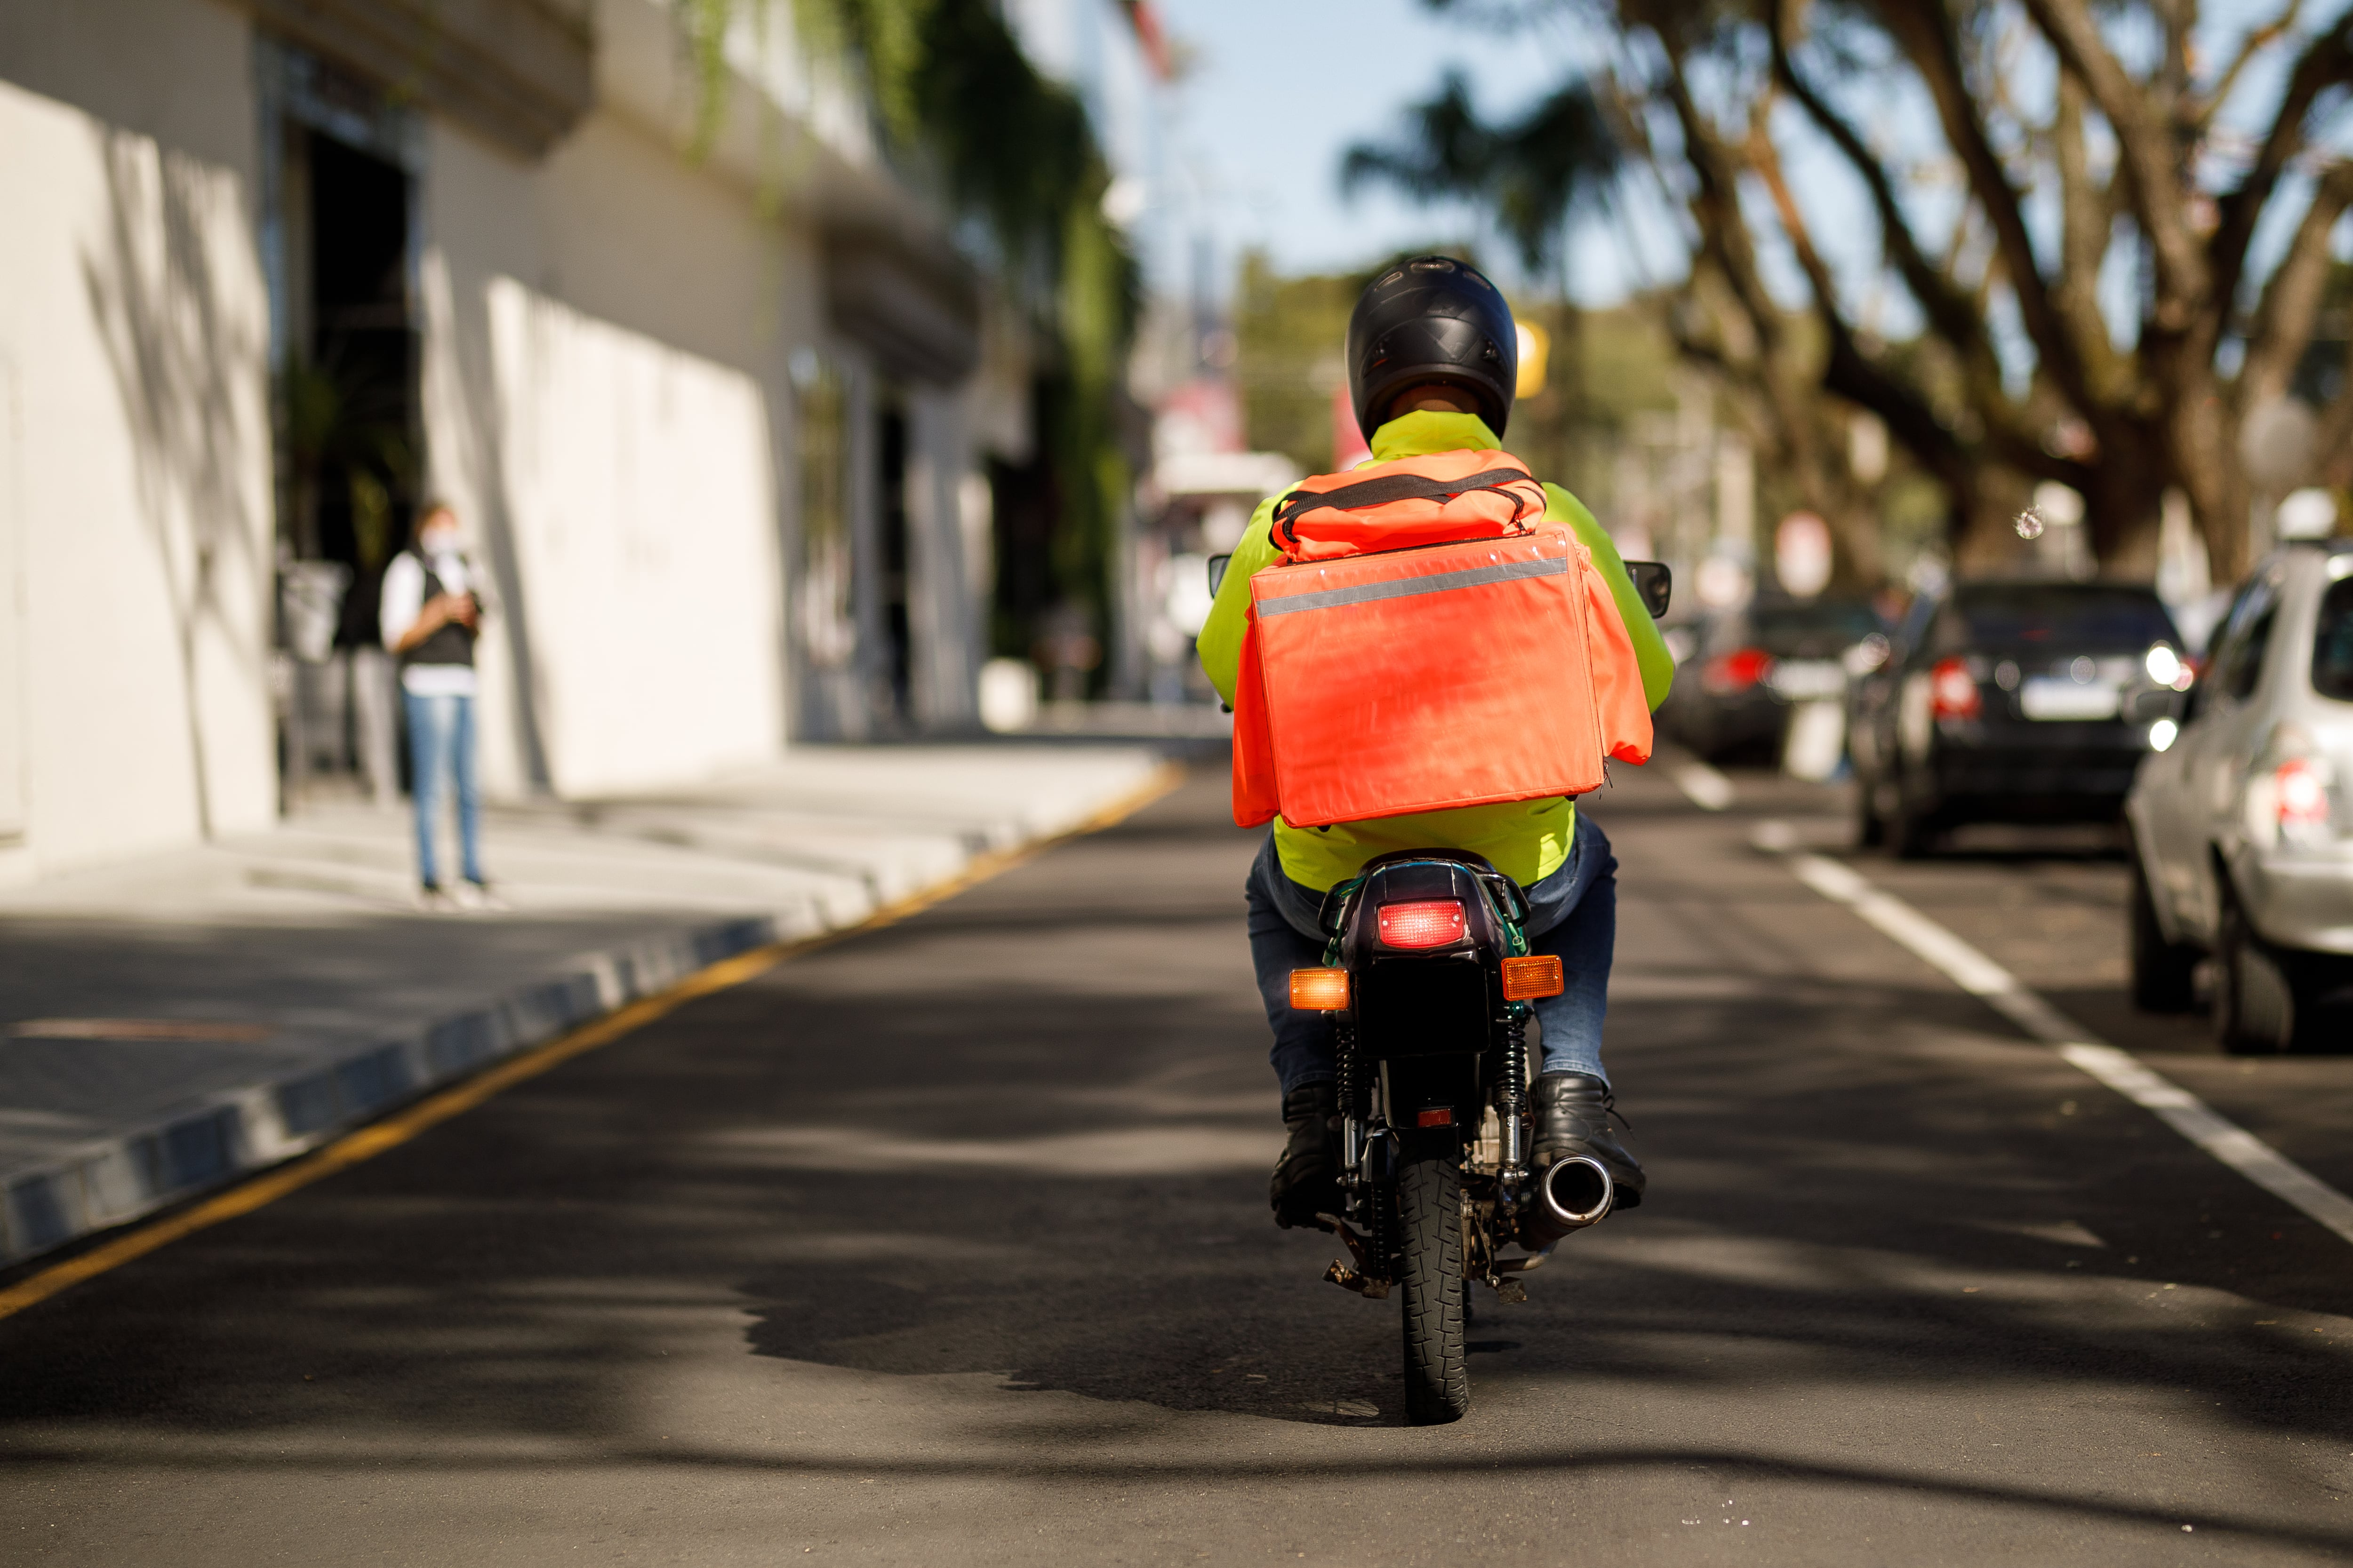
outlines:
[[[1113,823],[1153,804],[1155,799],[1174,790],[1179,783],[1184,783],[1184,766],[1167,762],[1160,769],[1155,769],[1144,785],[1118,797],[1115,802],[1089,816],[1078,827],[1054,835],[1052,839],[1024,844],[1021,849],[1007,849],[979,856],[972,860],[972,865],[967,865],[948,882],[925,889],[922,893],[901,898],[899,903],[885,905],[864,922],[859,922],[856,926],[826,931],[824,936],[805,936],[788,943],[769,943],[765,947],[753,947],[751,952],[739,952],[732,959],[720,959],[708,969],[699,969],[678,985],[673,985],[671,990],[654,992],[652,997],[640,997],[638,1001],[631,1001],[612,1013],[605,1013],[595,1023],[586,1023],[572,1030],[569,1034],[551,1039],[544,1046],[534,1046],[522,1056],[504,1060],[485,1072],[478,1072],[464,1084],[454,1084],[452,1088],[442,1088],[440,1093],[426,1095],[416,1105],[395,1112],[384,1121],[369,1121],[367,1126],[336,1138],[315,1154],[306,1154],[273,1171],[264,1171],[261,1175],[238,1182],[235,1187],[219,1192],[205,1199],[202,1204],[195,1204],[193,1208],[184,1208],[181,1213],[155,1220],[153,1225],[139,1225],[136,1229],[129,1229],[115,1237],[113,1241],[106,1241],[101,1246],[89,1248],[87,1253],[80,1253],[78,1258],[68,1258],[66,1262],[52,1265],[47,1269],[40,1269],[38,1274],[19,1279],[7,1291],[0,1291],[0,1319],[14,1316],[26,1307],[45,1302],[59,1291],[68,1291],[82,1284],[85,1279],[94,1279],[96,1274],[104,1274],[108,1269],[120,1269],[125,1262],[132,1262],[134,1258],[146,1258],[155,1248],[169,1246],[181,1237],[193,1237],[195,1232],[209,1229],[221,1220],[235,1220],[238,1215],[252,1213],[264,1204],[275,1204],[285,1194],[299,1192],[311,1182],[334,1175],[336,1171],[348,1171],[362,1159],[374,1159],[386,1150],[398,1150],[416,1133],[438,1126],[449,1117],[459,1117],[480,1105],[482,1100],[504,1093],[506,1088],[513,1088],[525,1079],[534,1079],[551,1067],[569,1063],[574,1056],[586,1056],[588,1051],[607,1046],[621,1039],[624,1034],[631,1034],[633,1030],[642,1030],[656,1018],[673,1013],[699,997],[708,997],[713,992],[744,985],[753,976],[774,969],[779,961],[788,957],[800,957],[819,947],[831,947],[833,943],[847,940],[852,936],[878,931],[882,926],[906,919],[908,914],[929,910],[932,905],[946,898],[955,898],[958,893],[981,882],[988,882],[991,877],[998,877],[1021,865],[1024,860],[1045,853],[1056,844],[1064,844],[1068,839],[1089,832],[1101,832],[1104,827],[1111,827]]]

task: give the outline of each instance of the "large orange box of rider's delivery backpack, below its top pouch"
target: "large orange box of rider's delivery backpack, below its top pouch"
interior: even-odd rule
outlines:
[[[1633,644],[1565,529],[1268,567],[1249,597],[1245,827],[1584,795],[1649,757]]]

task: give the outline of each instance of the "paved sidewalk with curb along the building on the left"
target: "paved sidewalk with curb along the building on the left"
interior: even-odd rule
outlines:
[[[280,1161],[734,952],[854,926],[1158,788],[1146,745],[802,748],[485,811],[506,912],[421,914],[407,811],[0,893],[0,1265]]]

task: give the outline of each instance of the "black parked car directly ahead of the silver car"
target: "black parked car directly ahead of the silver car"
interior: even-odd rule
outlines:
[[[1920,856],[1962,823],[2113,820],[2191,665],[2151,588],[1958,583],[1849,691],[1857,837]]]

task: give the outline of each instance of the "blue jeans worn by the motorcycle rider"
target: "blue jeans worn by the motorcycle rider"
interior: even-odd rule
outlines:
[[[1292,971],[1322,964],[1325,940],[1315,929],[1322,893],[1282,875],[1275,837],[1249,865],[1242,884],[1249,900],[1249,959],[1259,969],[1259,997],[1275,1030],[1275,1079],[1282,1093],[1337,1077],[1332,1025],[1322,1013],[1292,1011]],[[1567,990],[1537,1001],[1544,1025],[1544,1072],[1588,1072],[1602,1084],[1602,1013],[1609,1011],[1609,959],[1617,952],[1617,856],[1609,839],[1584,811],[1567,863],[1527,889],[1527,950],[1560,959]]]

